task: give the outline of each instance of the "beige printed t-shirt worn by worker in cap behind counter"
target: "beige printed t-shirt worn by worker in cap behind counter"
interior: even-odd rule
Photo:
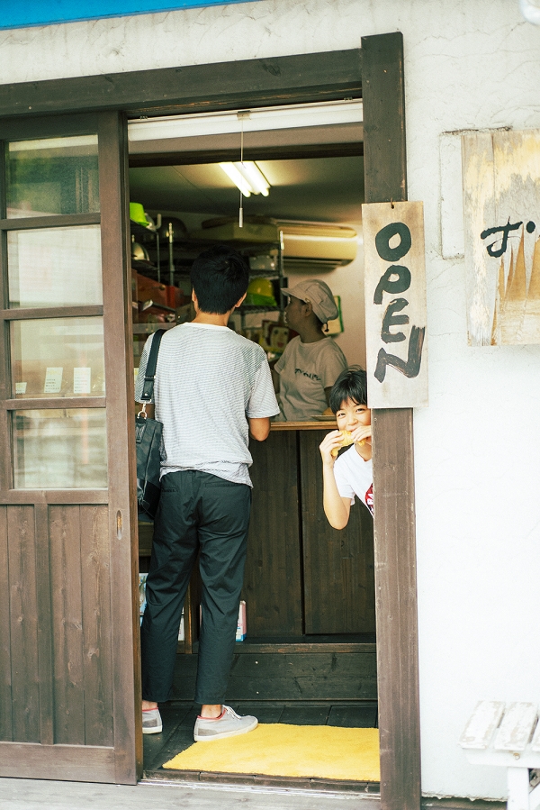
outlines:
[[[275,364],[282,417],[295,422],[322,414],[328,407],[324,389],[333,386],[345,369],[347,359],[332,338],[314,343],[293,338]]]

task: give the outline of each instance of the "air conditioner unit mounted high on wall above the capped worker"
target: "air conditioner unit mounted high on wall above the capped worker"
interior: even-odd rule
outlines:
[[[284,272],[333,270],[356,259],[357,233],[345,225],[280,223]]]

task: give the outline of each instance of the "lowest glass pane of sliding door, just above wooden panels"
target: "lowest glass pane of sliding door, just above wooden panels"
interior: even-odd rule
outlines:
[[[13,412],[15,489],[107,487],[105,411]]]

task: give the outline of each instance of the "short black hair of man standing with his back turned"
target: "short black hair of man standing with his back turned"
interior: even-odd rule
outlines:
[[[246,260],[229,245],[214,245],[193,261],[192,287],[202,312],[229,312],[249,284]]]

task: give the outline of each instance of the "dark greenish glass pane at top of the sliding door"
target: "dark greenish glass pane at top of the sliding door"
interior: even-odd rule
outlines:
[[[14,141],[5,163],[8,218],[99,211],[97,135]]]

